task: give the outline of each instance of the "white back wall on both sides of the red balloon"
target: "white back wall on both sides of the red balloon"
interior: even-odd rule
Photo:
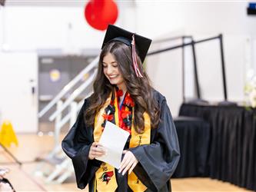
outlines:
[[[222,33],[228,83],[228,98],[243,99],[244,73],[256,68],[256,17],[246,15],[247,2],[168,2],[118,1],[116,25],[136,31],[153,40],[176,35],[194,35],[196,40]],[[84,7],[5,6],[0,9],[0,45],[12,51],[60,48],[76,53],[80,49],[100,48],[105,31],[91,28],[84,18]],[[173,41],[157,48],[175,45]],[[202,97],[221,101],[218,45],[197,46]],[[189,58],[188,56],[187,58]],[[172,114],[181,104],[181,50],[147,59],[147,70],[158,91],[168,100]],[[0,65],[0,71],[3,69]],[[208,72],[202,71],[202,69]],[[188,71],[188,69],[187,69]],[[193,86],[187,81],[187,94]]]

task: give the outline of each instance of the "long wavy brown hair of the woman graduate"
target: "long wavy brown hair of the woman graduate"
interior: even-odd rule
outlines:
[[[108,42],[101,50],[98,62],[98,74],[93,84],[94,93],[89,100],[89,107],[85,110],[86,124],[93,126],[95,115],[102,108],[109,97],[109,94],[115,91],[115,84],[110,84],[105,77],[102,67],[102,61],[105,55],[111,53],[118,63],[118,69],[122,74],[128,93],[135,102],[134,125],[138,133],[144,131],[143,113],[147,112],[151,118],[151,128],[158,126],[160,115],[159,107],[153,97],[153,88],[151,87],[148,74],[143,70],[141,59],[136,53],[138,67],[142,71],[143,78],[138,78],[132,65],[131,46],[125,45],[121,41]]]

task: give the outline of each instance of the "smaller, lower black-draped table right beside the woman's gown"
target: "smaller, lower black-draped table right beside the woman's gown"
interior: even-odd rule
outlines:
[[[174,118],[181,158],[172,177],[207,176],[210,125],[201,118]]]

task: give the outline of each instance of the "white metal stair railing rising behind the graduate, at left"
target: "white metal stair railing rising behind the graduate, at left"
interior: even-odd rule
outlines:
[[[97,71],[98,71],[98,68],[97,68],[98,59],[99,57],[91,61],[91,63],[84,70],[82,70],[74,79],[72,79],[62,89],[62,91],[60,91],[55,96],[55,98],[53,98],[52,101],[50,101],[45,106],[45,108],[43,108],[42,111],[38,113],[38,118],[42,118],[43,115],[45,115],[53,106],[56,105],[56,111],[54,111],[49,117],[49,121],[55,120],[55,131],[54,131],[55,146],[52,148],[52,151],[48,153],[47,157],[44,158],[44,160],[45,162],[55,162],[54,160],[59,159],[59,157],[61,157],[62,162],[55,164],[54,169],[50,172],[50,174],[48,174],[48,177],[45,177],[46,183],[57,182],[61,184],[72,173],[71,160],[64,155],[64,152],[62,151],[61,143],[59,142],[60,132],[62,127],[64,127],[64,125],[68,123],[68,121],[69,121],[69,127],[75,124],[78,111],[81,109],[81,106],[84,104],[84,100],[78,101],[77,103],[75,99],[78,98],[78,96],[82,93],[82,91],[85,91],[85,89],[88,88],[94,81],[95,75],[97,74]],[[75,91],[73,91],[65,101],[62,101],[62,98],[65,97],[65,94],[71,91],[71,89],[74,88],[74,86],[78,84],[78,82],[81,81],[81,79],[85,77],[85,74],[88,74],[88,73],[90,74],[90,76],[85,80],[85,82],[79,85],[78,88],[76,88]],[[85,96],[85,98],[87,98],[91,94],[92,94],[92,91],[88,93]],[[68,107],[70,107],[68,114],[65,114],[65,116],[62,117],[62,112],[65,110],[65,108],[68,108]],[[45,175],[44,167],[40,166],[37,170],[35,170],[35,173],[40,175]]]

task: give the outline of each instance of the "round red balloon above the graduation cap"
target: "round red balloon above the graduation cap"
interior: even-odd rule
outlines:
[[[91,0],[85,6],[85,19],[91,27],[104,31],[108,24],[115,24],[118,6],[113,0]]]

